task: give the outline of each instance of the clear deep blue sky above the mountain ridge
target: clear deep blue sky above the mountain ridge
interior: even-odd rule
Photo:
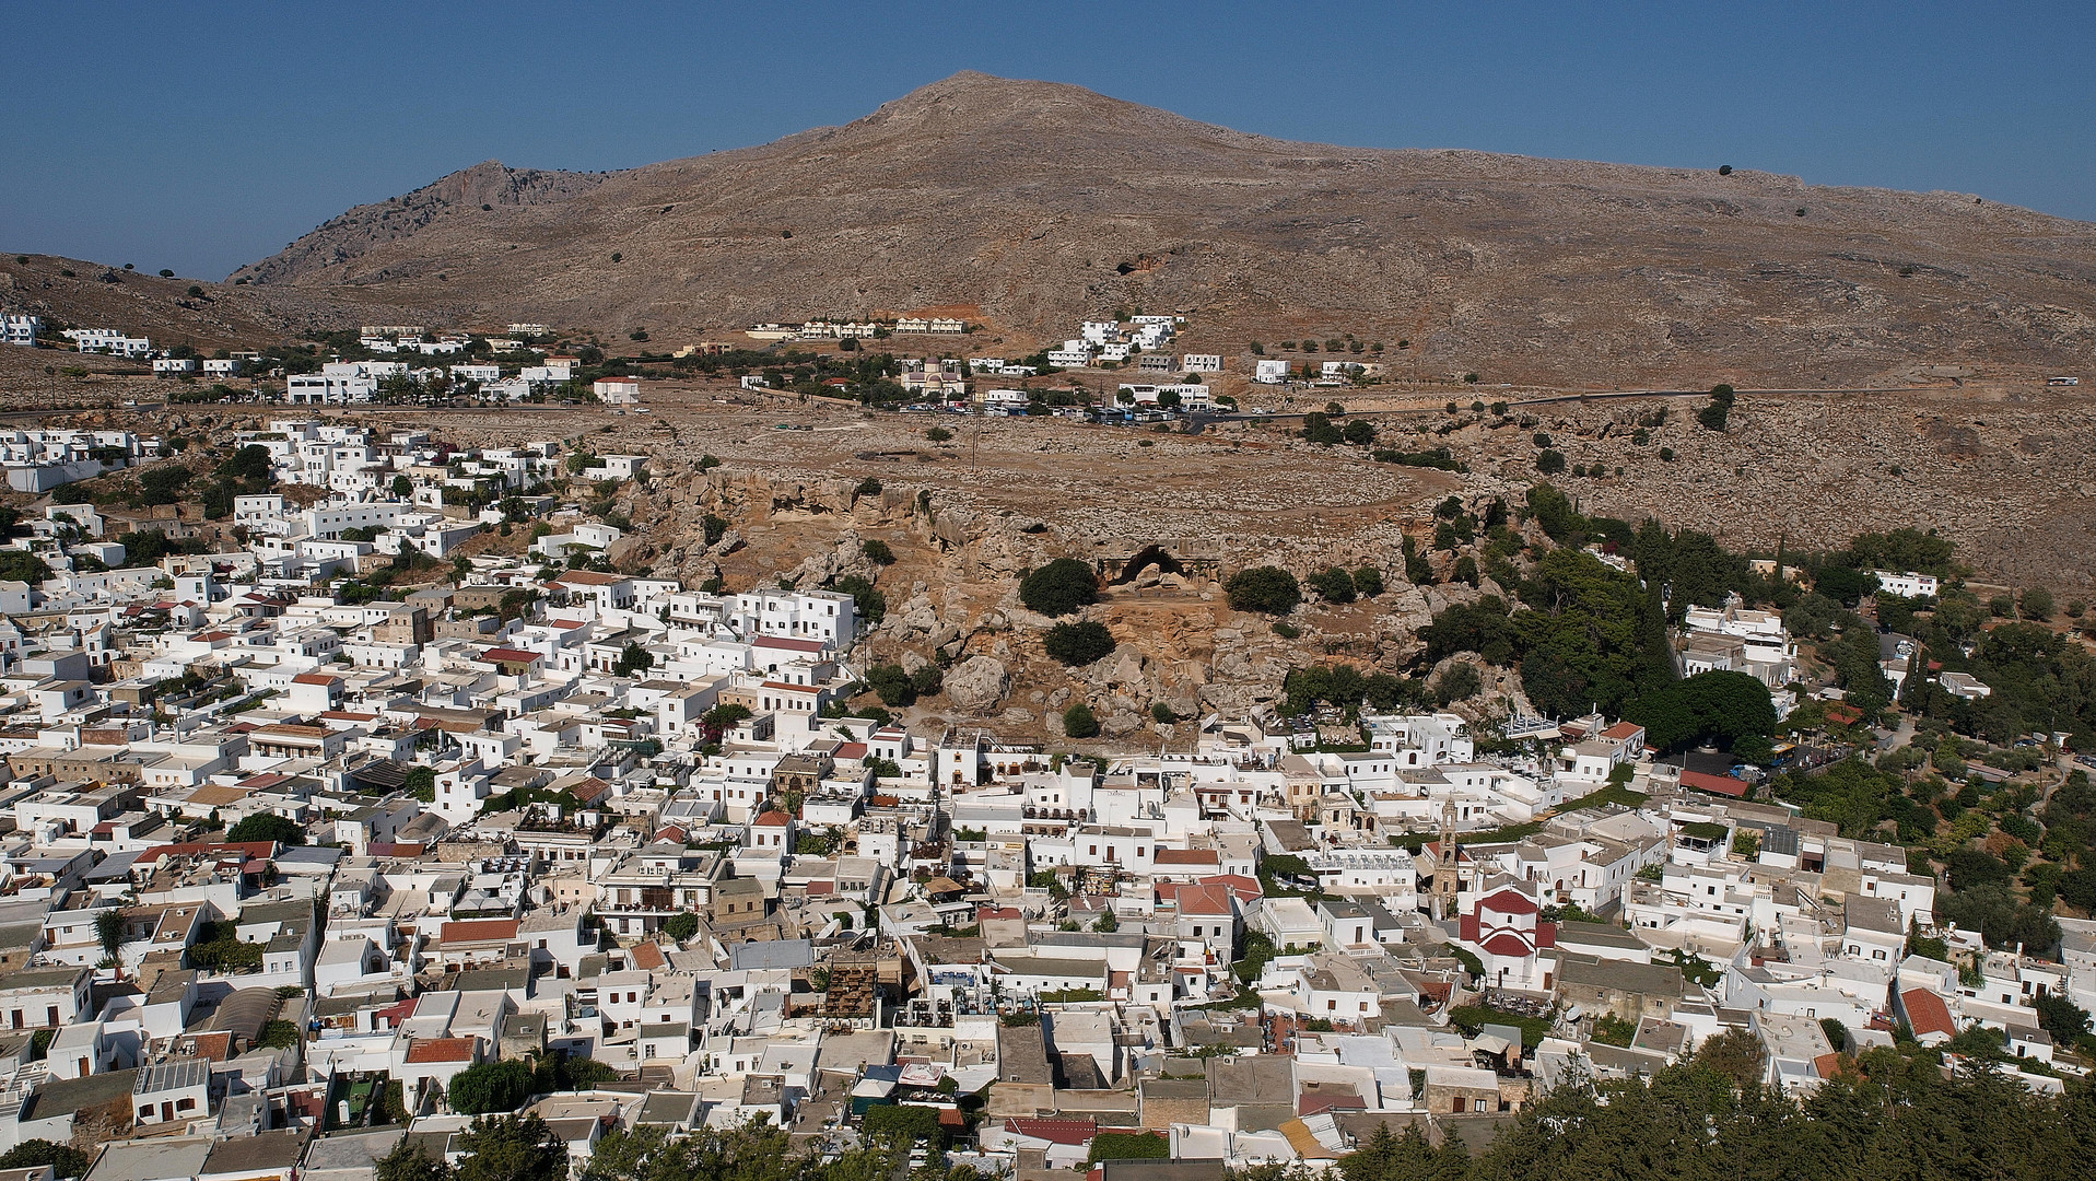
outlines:
[[[1790,172],[2096,218],[2096,2],[0,0],[0,250],[222,277],[480,159],[631,168],[958,69],[1358,147]]]

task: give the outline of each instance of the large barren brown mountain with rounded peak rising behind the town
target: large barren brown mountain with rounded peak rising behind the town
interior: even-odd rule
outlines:
[[[2096,344],[2088,222],[1759,172],[1287,143],[981,73],[629,172],[480,164],[239,275],[658,342],[975,306],[1012,352],[1172,308],[1203,348],[1352,331],[1411,340],[1413,373],[1488,382],[1794,386],[2060,367]]]

